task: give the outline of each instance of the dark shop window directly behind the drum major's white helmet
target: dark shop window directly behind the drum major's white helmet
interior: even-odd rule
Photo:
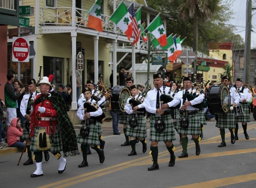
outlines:
[[[50,74],[53,74],[54,77],[52,84],[54,84],[55,86],[58,86],[59,84],[63,83],[62,74],[64,59],[44,56],[43,61],[44,76],[49,76]]]

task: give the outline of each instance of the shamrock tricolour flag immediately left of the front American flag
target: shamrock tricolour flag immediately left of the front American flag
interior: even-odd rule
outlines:
[[[132,22],[124,2],[117,7],[116,11],[109,19],[113,21],[130,40],[130,37],[132,37]]]

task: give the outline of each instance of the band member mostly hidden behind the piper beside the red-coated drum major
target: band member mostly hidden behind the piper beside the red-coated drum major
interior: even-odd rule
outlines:
[[[92,90],[92,94],[94,93],[94,85],[93,85],[92,80],[87,80],[85,87],[90,88]],[[96,91],[94,96],[96,98],[98,98],[98,96],[100,96],[100,91]],[[102,96],[100,98],[100,100],[98,101],[98,104],[101,104],[104,100],[105,100],[105,96]],[[86,99],[84,98],[84,93],[82,93],[80,95],[80,98],[78,99],[78,106],[81,106],[82,104],[84,104],[85,101],[86,101]],[[103,103],[102,106],[105,104],[106,103]],[[103,137],[101,136],[101,133],[102,133],[101,124],[98,121],[97,121],[97,133],[98,133],[98,138],[100,141],[100,148],[104,149],[105,141],[103,140]],[[92,154],[92,152],[90,150],[90,145],[87,145],[87,155],[90,155],[90,154]]]

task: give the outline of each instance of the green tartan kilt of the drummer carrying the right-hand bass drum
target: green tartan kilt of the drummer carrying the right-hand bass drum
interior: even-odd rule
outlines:
[[[218,128],[229,128],[233,129],[236,127],[235,114],[234,111],[230,110],[228,114],[218,114],[218,121],[216,126]]]

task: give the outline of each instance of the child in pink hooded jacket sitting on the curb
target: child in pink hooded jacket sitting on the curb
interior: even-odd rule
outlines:
[[[20,141],[20,137],[22,137],[22,132],[23,129],[20,127],[20,119],[13,118],[7,134],[7,143],[10,147],[17,147],[20,149],[23,149],[25,147],[25,144]]]

